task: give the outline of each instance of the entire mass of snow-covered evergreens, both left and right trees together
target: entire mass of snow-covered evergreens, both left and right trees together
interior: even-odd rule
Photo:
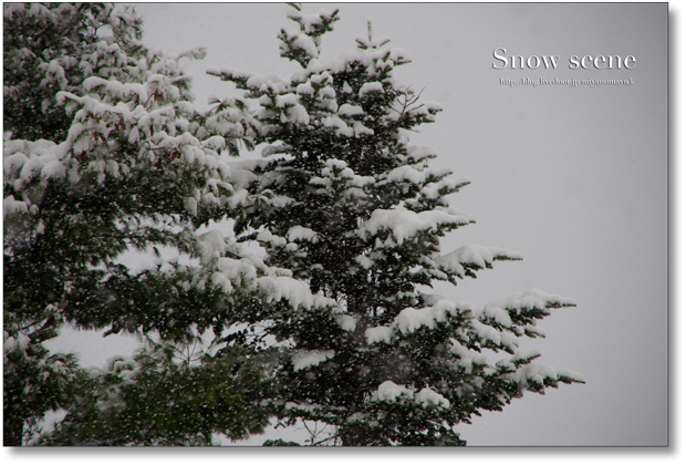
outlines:
[[[583,382],[519,350],[573,299],[531,289],[477,309],[426,292],[522,256],[441,255],[475,223],[448,202],[469,180],[410,145],[441,107],[395,80],[406,53],[370,24],[323,63],[337,10],[289,18],[281,55],[301,69],[209,69],[245,94],[199,111],[179,62],[204,50],[147,48],[134,10],[3,6],[6,444],[202,445],[276,417],[324,424],[313,445],[462,445],[480,411]],[[229,162],[258,145],[263,159]],[[156,266],[128,269],[128,250]],[[143,344],[85,370],[43,345],[65,323]]]

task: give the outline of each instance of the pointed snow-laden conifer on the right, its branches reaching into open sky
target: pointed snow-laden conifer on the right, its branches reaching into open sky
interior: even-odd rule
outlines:
[[[339,304],[334,313],[252,317],[254,333],[280,341],[276,414],[287,424],[331,425],[321,443],[459,445],[455,426],[479,411],[501,410],[527,390],[583,382],[518,350],[520,337],[543,335],[538,320],[573,299],[528,290],[477,310],[420,292],[521,256],[480,246],[439,254],[443,236],[474,223],[447,199],[468,180],[428,168],[435,151],[408,144],[440,107],[394,79],[409,59],[375,40],[371,24],[357,50],[320,62],[337,10],[294,7],[299,30],[279,34],[281,55],[301,65],[289,80],[208,70],[259,102],[258,142],[270,144],[266,159],[233,167],[235,187],[249,193],[237,236]],[[485,349],[508,355],[492,363]]]

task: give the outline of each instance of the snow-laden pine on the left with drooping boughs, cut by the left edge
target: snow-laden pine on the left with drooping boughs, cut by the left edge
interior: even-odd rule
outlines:
[[[237,309],[264,300],[331,306],[218,230],[198,232],[243,200],[219,156],[250,145],[259,122],[240,100],[198,112],[179,60],[204,51],[170,58],[141,37],[135,11],[112,4],[3,4],[4,100],[31,115],[3,120],[4,445],[22,444],[58,407],[70,413],[43,443],[198,444],[210,432],[258,432],[264,418],[245,392],[259,391],[259,371],[239,351],[178,366],[149,354],[193,344],[208,328],[220,334]],[[160,256],[157,267],[133,271],[118,262],[126,250],[159,246],[199,265]],[[43,345],[65,322],[153,342],[86,372]],[[164,390],[208,400],[177,399],[168,405],[175,423],[163,415]]]

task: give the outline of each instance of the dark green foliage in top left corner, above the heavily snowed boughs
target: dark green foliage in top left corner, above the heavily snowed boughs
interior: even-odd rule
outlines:
[[[74,92],[104,63],[84,65],[108,24],[107,3],[4,3],[2,6],[2,131],[12,138],[63,141],[72,120],[56,104],[59,91]],[[141,39],[141,21],[126,24]],[[100,65],[100,66],[98,66]]]

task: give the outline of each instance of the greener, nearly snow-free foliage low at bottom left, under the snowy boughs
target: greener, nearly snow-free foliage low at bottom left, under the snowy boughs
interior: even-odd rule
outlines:
[[[193,360],[198,354],[183,349],[193,344],[154,344],[111,360],[39,444],[209,445],[215,433],[261,433],[268,418],[251,397],[266,390],[259,371],[236,354]]]

